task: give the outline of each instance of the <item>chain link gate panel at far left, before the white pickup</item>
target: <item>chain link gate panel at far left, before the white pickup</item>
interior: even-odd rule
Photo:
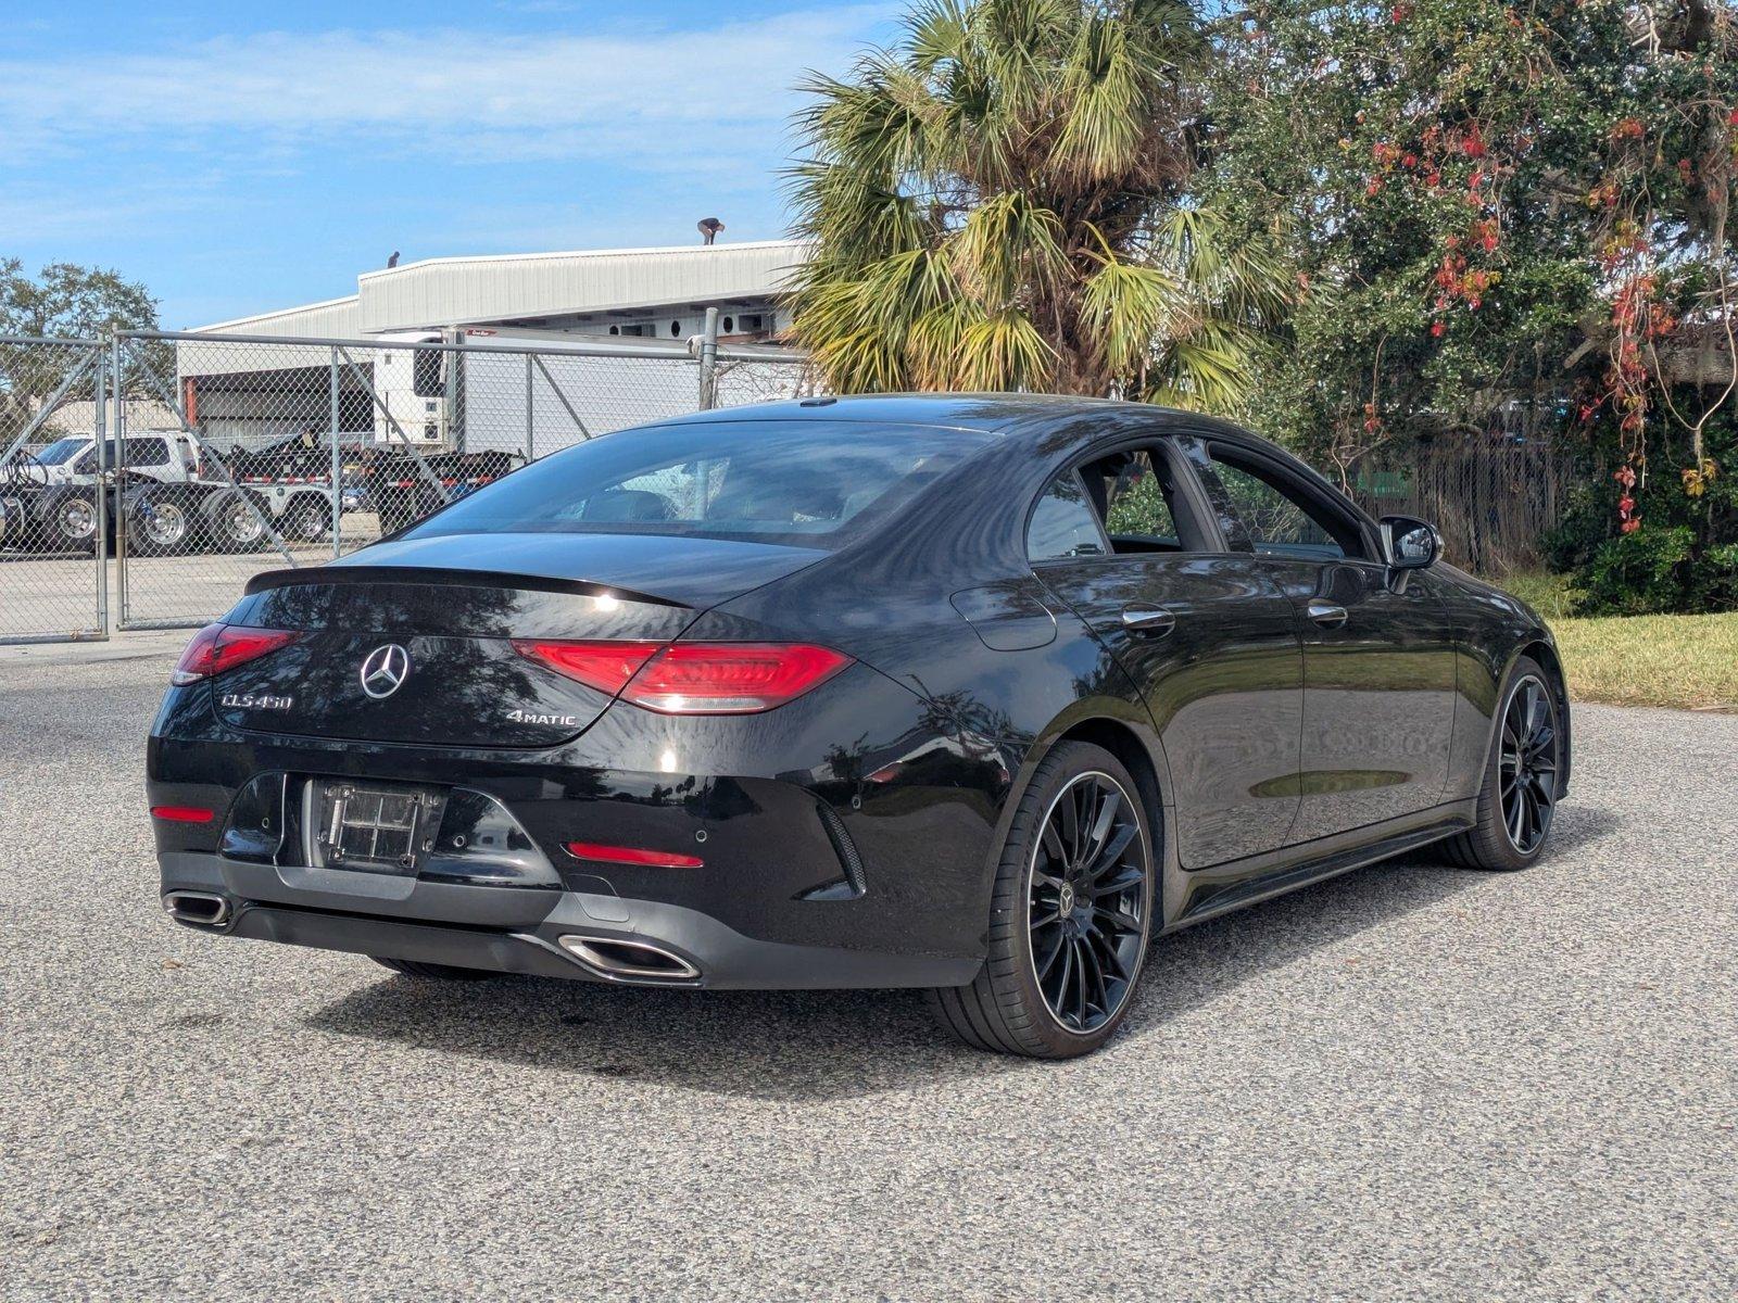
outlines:
[[[0,643],[106,636],[106,360],[0,335]]]

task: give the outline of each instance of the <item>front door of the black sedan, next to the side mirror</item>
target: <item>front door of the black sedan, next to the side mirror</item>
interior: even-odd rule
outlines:
[[[1185,443],[1231,546],[1291,601],[1304,638],[1304,757],[1293,843],[1443,801],[1455,631],[1437,585],[1390,572],[1375,528],[1258,446]]]

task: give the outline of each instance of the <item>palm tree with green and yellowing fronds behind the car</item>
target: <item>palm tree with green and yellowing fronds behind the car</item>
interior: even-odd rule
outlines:
[[[1189,0],[926,0],[815,76],[794,334],[841,393],[1232,405],[1276,264],[1191,203]]]

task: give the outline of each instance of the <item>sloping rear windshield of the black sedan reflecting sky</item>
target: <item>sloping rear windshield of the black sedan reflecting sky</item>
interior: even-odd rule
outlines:
[[[991,438],[843,420],[624,429],[514,471],[403,537],[662,533],[831,549]]]

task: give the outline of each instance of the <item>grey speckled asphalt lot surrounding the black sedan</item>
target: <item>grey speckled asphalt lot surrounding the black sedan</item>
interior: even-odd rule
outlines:
[[[1533,870],[1164,938],[1053,1065],[912,994],[454,987],[176,928],[170,641],[0,657],[7,1300],[1738,1291],[1738,718],[1582,707]]]

